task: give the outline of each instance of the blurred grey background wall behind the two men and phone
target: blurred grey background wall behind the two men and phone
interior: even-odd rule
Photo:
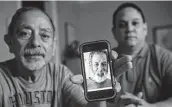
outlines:
[[[14,12],[23,6],[45,10],[56,26],[56,61],[66,64],[74,74],[81,73],[78,46],[87,41],[117,42],[111,33],[112,14],[124,1],[0,1],[0,62],[13,58],[4,42],[4,34]],[[171,1],[134,1],[143,9],[148,23],[147,42],[155,42],[154,29],[172,24]],[[161,28],[161,27],[160,27]],[[163,27],[164,29],[164,27]],[[157,38],[156,38],[157,39]],[[108,105],[109,107],[112,105]]]

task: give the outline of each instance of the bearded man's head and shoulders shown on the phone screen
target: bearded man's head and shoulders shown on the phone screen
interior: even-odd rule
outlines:
[[[108,78],[107,53],[105,51],[93,51],[89,57],[92,74],[87,80],[88,91],[105,87],[112,87]]]

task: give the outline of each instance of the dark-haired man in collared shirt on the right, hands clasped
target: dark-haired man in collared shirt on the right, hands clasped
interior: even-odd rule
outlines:
[[[143,11],[133,3],[120,5],[113,14],[114,50],[132,56],[133,68],[119,77],[118,104],[125,107],[172,106],[172,54],[146,43],[147,23]],[[118,105],[119,106],[119,105]]]

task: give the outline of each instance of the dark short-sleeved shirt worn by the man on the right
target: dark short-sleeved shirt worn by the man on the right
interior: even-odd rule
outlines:
[[[119,95],[143,92],[143,98],[149,103],[172,97],[172,53],[157,45],[154,45],[153,52],[151,46],[145,44],[133,58],[133,68],[118,78],[121,84]]]

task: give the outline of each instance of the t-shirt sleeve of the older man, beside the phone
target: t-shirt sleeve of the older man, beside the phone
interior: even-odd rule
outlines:
[[[84,107],[87,101],[84,97],[84,91],[81,85],[74,84],[70,78],[73,76],[72,72],[64,66],[63,69],[63,101],[65,107]]]

